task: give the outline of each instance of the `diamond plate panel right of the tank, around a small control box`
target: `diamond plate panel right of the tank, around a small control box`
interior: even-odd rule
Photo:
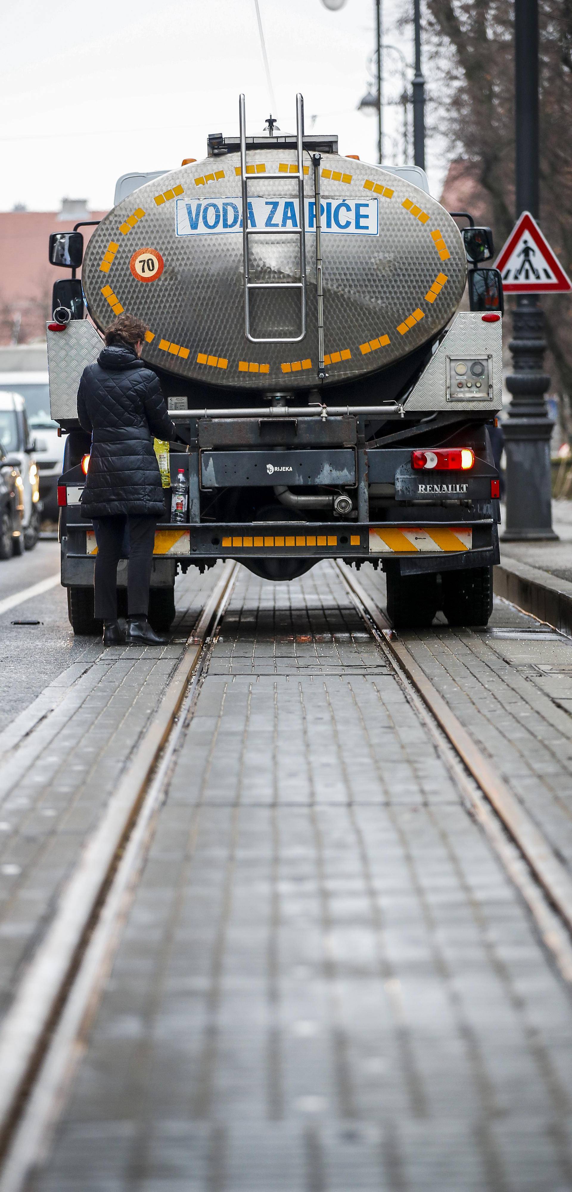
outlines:
[[[465,397],[461,402],[447,401],[448,360],[450,356],[490,358],[492,399]],[[410,410],[490,410],[503,405],[503,323],[484,323],[478,311],[461,311],[453,321],[442,343],[431,356],[405,403]]]

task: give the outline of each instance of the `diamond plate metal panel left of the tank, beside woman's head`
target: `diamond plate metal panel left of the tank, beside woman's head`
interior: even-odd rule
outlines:
[[[64,331],[49,331],[48,368],[50,411],[56,422],[77,417],[77,387],[86,365],[93,365],[104,347],[87,319],[72,319]]]

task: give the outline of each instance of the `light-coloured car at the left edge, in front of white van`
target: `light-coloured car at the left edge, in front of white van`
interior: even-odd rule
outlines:
[[[12,465],[21,485],[21,541],[31,551],[39,536],[41,505],[35,441],[30,429],[24,398],[20,393],[0,392],[0,442],[8,465]],[[17,482],[17,484],[18,484]],[[20,533],[14,539],[14,554],[20,553]]]

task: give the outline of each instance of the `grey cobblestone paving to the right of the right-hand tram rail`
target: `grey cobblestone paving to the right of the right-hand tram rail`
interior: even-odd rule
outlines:
[[[380,578],[371,567],[362,575],[383,603]],[[572,867],[572,641],[527,620],[524,635],[505,619],[481,632],[443,619],[399,637]]]

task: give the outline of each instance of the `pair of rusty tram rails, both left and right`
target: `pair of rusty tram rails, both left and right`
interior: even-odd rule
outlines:
[[[406,644],[343,563],[343,589],[428,730],[468,813],[518,890],[559,973],[572,982],[572,880]],[[20,1192],[51,1142],[111,971],[158,812],[230,601],[224,566],[163,701],[62,896],[0,1032],[0,1192]]]

